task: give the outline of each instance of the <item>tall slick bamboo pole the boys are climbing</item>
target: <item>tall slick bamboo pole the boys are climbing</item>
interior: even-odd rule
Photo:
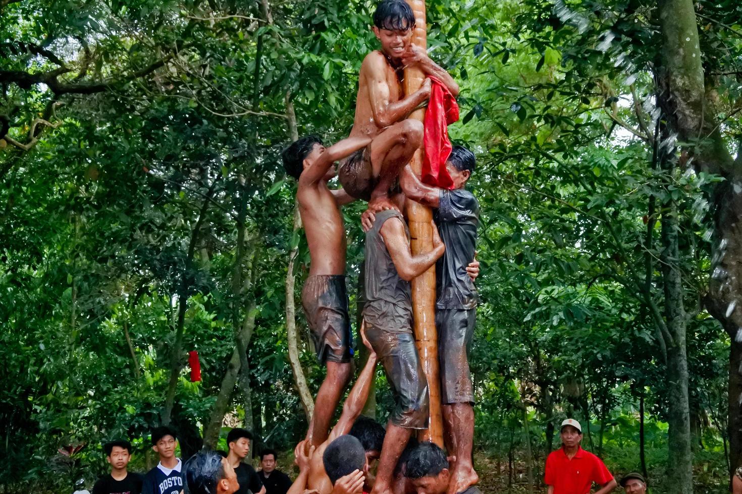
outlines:
[[[416,27],[413,33],[413,44],[427,48],[427,27],[425,21],[425,1],[405,0],[415,13]],[[416,67],[404,69],[404,93],[412,94],[420,88],[425,74]],[[425,110],[420,109],[410,115],[410,119],[422,121]],[[418,149],[410,162],[413,171],[420,176],[422,171],[422,147]],[[433,229],[430,220],[433,213],[429,207],[408,201],[407,221],[410,226],[410,248],[413,255],[433,250]],[[438,333],[436,332],[436,267],[430,267],[425,273],[415,278],[413,288],[413,315],[415,318],[415,340],[420,353],[420,360],[430,390],[430,424],[427,430],[421,431],[419,438],[433,441],[443,446],[443,420],[441,418],[441,384],[438,364]]]

